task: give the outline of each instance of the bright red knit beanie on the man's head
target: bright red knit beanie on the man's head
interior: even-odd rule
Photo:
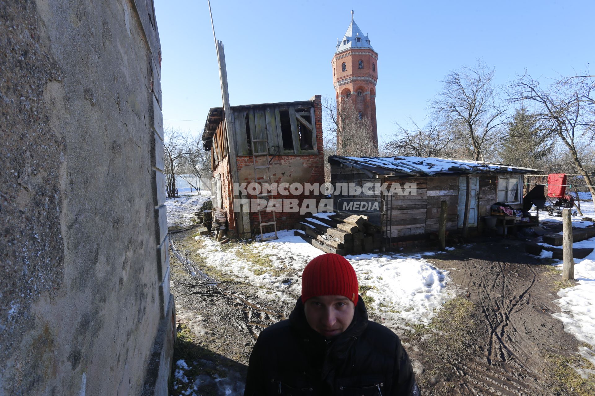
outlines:
[[[358,277],[345,257],[327,253],[306,265],[302,274],[302,303],[315,296],[345,296],[358,305]]]

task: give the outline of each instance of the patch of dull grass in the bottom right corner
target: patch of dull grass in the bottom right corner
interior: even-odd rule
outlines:
[[[595,369],[595,366],[582,356],[562,356],[555,353],[545,355],[548,362],[554,366],[553,374],[569,392],[578,396],[595,394],[595,376],[589,375],[587,379],[581,377],[574,368]]]

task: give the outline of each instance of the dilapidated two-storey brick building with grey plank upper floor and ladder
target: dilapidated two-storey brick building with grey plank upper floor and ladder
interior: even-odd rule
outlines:
[[[236,141],[235,163],[237,180],[243,188],[236,197],[242,199],[296,199],[299,206],[303,199],[320,199],[319,194],[302,192],[287,195],[258,193],[246,186],[276,185],[283,183],[324,183],[324,156],[322,147],[321,96],[299,102],[248,104],[231,107],[230,115]],[[213,205],[227,214],[232,235],[255,235],[289,229],[302,218],[299,211],[250,210],[234,202],[230,172],[228,142],[224,113],[221,107],[209,109],[203,147],[211,150],[213,169]],[[259,189],[259,187],[258,187]],[[253,194],[250,193],[253,192]],[[235,205],[235,207],[234,207]],[[252,208],[253,209],[253,208]],[[242,216],[242,221],[236,221]],[[243,229],[237,230],[236,224]]]

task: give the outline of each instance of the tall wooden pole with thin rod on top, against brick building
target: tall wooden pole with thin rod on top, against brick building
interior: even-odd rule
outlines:
[[[236,227],[237,236],[240,238],[246,237],[244,235],[244,224],[242,218],[242,208],[234,208],[234,201],[239,202],[239,195],[234,191],[234,183],[239,184],[239,177],[237,175],[237,155],[236,155],[236,133],[234,127],[233,113],[229,102],[229,91],[227,89],[227,67],[225,63],[225,51],[223,49],[223,42],[217,40],[215,36],[215,24],[213,23],[213,14],[211,12],[211,1],[209,3],[209,14],[211,14],[211,27],[213,28],[213,38],[215,39],[215,46],[217,46],[217,60],[219,62],[219,79],[221,81],[221,98],[223,99],[223,116],[225,122],[225,130],[227,136],[227,161],[229,173],[231,178],[231,191],[233,192],[233,200],[230,204],[230,218],[233,218],[233,224]]]

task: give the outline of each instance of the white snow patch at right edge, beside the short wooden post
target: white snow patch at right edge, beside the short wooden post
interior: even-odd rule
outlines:
[[[595,238],[574,243],[574,248],[595,248]],[[558,265],[562,269],[562,264]],[[595,251],[584,259],[575,259],[574,278],[577,286],[558,292],[555,303],[562,309],[553,313],[564,324],[564,330],[577,340],[595,346]]]

